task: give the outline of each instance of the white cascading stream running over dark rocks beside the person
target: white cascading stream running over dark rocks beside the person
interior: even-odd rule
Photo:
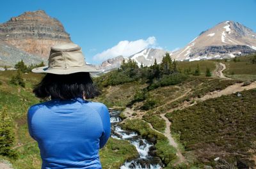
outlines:
[[[122,140],[129,140],[129,142],[134,145],[140,154],[139,158],[133,159],[132,161],[126,161],[124,165],[120,167],[120,169],[128,169],[128,168],[144,168],[144,169],[160,169],[163,164],[159,158],[150,156],[150,147],[154,145],[153,143],[148,142],[147,140],[141,138],[134,131],[125,131],[124,129],[118,126],[118,122],[122,121],[118,115],[120,111],[109,111],[112,134],[111,137]]]

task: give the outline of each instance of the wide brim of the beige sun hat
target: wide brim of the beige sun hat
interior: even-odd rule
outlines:
[[[48,68],[48,66],[42,66],[38,68],[34,68],[32,72],[34,73],[52,73],[57,75],[68,75],[71,73],[77,73],[77,72],[100,72],[101,70],[98,70],[97,68],[86,65],[85,67],[81,68],[68,68],[68,69],[52,69]]]

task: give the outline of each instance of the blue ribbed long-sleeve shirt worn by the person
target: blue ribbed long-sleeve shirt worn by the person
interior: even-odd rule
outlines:
[[[42,169],[102,168],[99,149],[111,131],[106,105],[82,98],[39,103],[28,110],[28,129],[38,142]]]

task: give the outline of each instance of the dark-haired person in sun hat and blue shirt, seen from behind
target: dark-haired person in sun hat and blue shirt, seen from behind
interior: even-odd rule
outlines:
[[[106,105],[88,99],[100,91],[86,64],[81,48],[74,43],[51,47],[49,65],[35,68],[46,73],[33,92],[49,101],[28,110],[28,130],[36,140],[42,169],[102,168],[99,149],[108,142],[111,124]]]

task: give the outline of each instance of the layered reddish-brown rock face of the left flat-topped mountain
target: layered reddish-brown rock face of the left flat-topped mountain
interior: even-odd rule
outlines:
[[[63,25],[45,11],[27,11],[0,24],[0,40],[47,59],[53,45],[71,42]]]

